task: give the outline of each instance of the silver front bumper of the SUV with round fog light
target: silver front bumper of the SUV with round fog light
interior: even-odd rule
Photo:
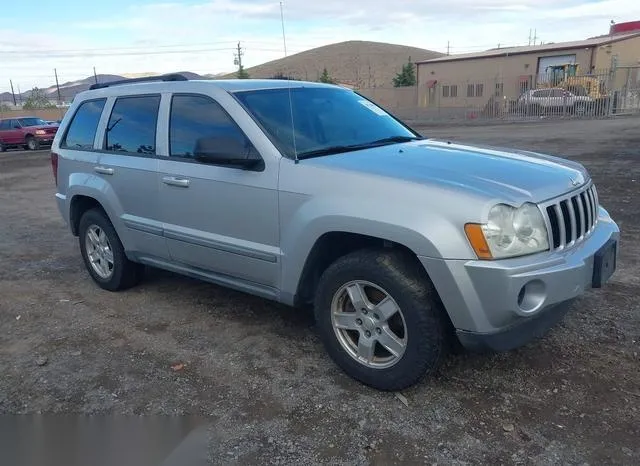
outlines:
[[[612,243],[617,254],[619,237],[600,208],[591,235],[566,250],[497,261],[420,260],[463,345],[511,349],[544,333],[592,287],[594,258]]]

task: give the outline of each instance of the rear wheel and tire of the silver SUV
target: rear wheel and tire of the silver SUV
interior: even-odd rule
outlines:
[[[95,266],[89,258],[93,253],[90,248],[92,248],[92,244],[96,244],[96,242],[92,243],[88,237],[90,230],[101,240],[98,243],[104,248],[94,254],[94,257],[98,256],[98,262],[100,262]],[[131,288],[140,282],[144,266],[127,258],[115,228],[102,210],[90,209],[86,211],[80,218],[78,233],[80,252],[85,267],[98,286],[109,291],[120,291]],[[106,239],[106,242],[102,241],[103,238]]]

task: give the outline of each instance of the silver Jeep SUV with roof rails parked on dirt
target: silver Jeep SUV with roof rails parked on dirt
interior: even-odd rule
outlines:
[[[525,344],[614,272],[578,163],[423,138],[338,86],[154,79],[79,94],[53,143],[104,289],[152,266],[311,305],[337,365],[395,390],[452,343]]]

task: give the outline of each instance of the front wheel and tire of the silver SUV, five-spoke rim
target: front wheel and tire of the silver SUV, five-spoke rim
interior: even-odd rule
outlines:
[[[347,284],[351,289],[365,290],[366,315],[355,310],[353,300],[344,291]],[[391,298],[388,305],[372,306],[379,304],[380,293]],[[340,307],[344,303],[346,307]],[[391,313],[393,305],[397,305],[399,312],[381,323],[385,311],[380,309]],[[347,308],[352,312],[334,313],[336,309]],[[314,312],[320,338],[331,359],[352,378],[378,390],[401,390],[414,385],[439,367],[448,348],[449,321],[437,293],[420,264],[399,250],[362,250],[338,259],[320,278]],[[352,329],[336,328],[340,326],[334,326],[336,319],[345,316],[348,323],[341,321],[340,325]],[[402,332],[401,325],[404,325]],[[389,330],[396,341],[404,342],[404,350],[396,351],[395,356],[378,341],[384,338],[388,344]],[[366,332],[372,337],[367,338]],[[363,342],[363,348],[368,348],[371,338],[375,340],[373,358],[368,363],[361,362],[360,344]],[[393,346],[400,348],[397,344]],[[394,359],[389,360],[389,356]],[[377,366],[373,367],[374,364]]]

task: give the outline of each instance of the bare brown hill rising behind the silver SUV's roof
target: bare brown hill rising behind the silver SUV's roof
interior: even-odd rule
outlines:
[[[250,53],[250,50],[247,51]],[[283,74],[294,79],[315,81],[326,67],[340,83],[359,88],[391,86],[396,73],[409,58],[429,60],[444,54],[431,50],[382,42],[347,41],[273,60],[247,68],[252,78],[272,78]],[[229,74],[226,77],[234,77]]]

